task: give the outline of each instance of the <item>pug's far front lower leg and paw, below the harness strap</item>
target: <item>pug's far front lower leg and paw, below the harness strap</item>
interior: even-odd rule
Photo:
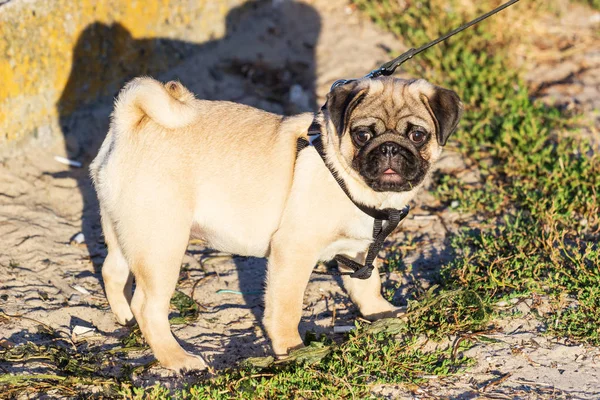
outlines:
[[[363,263],[365,254],[359,253],[354,260]],[[351,278],[348,275],[342,276],[344,289],[350,295],[350,298],[357,305],[360,313],[369,320],[376,320],[385,317],[395,317],[404,312],[403,308],[394,307],[390,302],[383,298],[381,294],[381,278],[377,263],[375,269],[368,279]],[[351,271],[349,268],[340,265],[341,271]]]

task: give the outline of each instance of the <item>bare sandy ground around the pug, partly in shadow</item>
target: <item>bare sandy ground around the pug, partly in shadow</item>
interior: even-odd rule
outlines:
[[[238,23],[243,35],[232,32],[195,49],[179,67],[159,78],[178,78],[200,97],[294,113],[322,103],[334,80],[361,76],[386,61],[387,50],[403,49],[344,0],[315,0],[301,8],[268,2],[246,13],[251,18],[242,15]],[[567,29],[574,24],[572,18],[579,21],[577,32]],[[570,12],[556,36],[571,41],[579,39],[577,34],[588,38],[599,20],[598,14]],[[528,62],[538,71],[547,71],[530,75],[539,96],[580,107],[596,119],[596,126],[587,131],[594,136],[598,135],[600,46],[597,37],[586,40],[581,51]],[[565,64],[570,66],[568,73],[558,76],[556,66],[566,68]],[[261,84],[264,81],[270,84]],[[0,163],[0,309],[4,313],[0,314],[0,345],[4,347],[47,341],[39,332],[39,322],[68,336],[76,326],[93,328],[85,340],[104,349],[119,346],[128,334],[128,329],[115,323],[104,297],[100,268],[106,251],[86,168],[106,132],[109,112],[110,100],[82,109],[68,121],[65,138]],[[54,160],[55,155],[74,158],[83,168],[66,167]],[[451,150],[439,168],[458,179],[469,179],[474,173]],[[446,235],[456,229],[457,221],[468,218],[439,207],[427,191],[415,204],[394,239],[414,241],[416,250],[404,260],[412,266],[413,276],[386,277],[389,287],[401,284],[396,294],[400,302],[414,279],[427,285],[428,276],[448,257]],[[77,243],[73,238],[80,232],[85,240]],[[268,354],[269,343],[259,323],[264,275],[262,259],[218,255],[190,245],[178,290],[193,297],[201,313],[196,321],[173,327],[185,347],[202,353],[217,369]],[[333,326],[351,325],[357,317],[355,307],[330,277],[313,276],[304,304],[303,332],[341,340],[341,335],[333,334]],[[389,398],[600,397],[600,349],[550,337],[527,314],[527,307],[523,311],[522,319],[496,321],[497,331],[488,335],[494,342],[480,342],[466,353],[476,360],[466,373],[431,379],[419,388],[381,386],[374,392]],[[134,352],[123,356],[122,364],[143,365],[151,360],[149,351]],[[0,362],[0,369],[44,373],[48,366]],[[135,379],[138,384],[181,384],[158,366]]]

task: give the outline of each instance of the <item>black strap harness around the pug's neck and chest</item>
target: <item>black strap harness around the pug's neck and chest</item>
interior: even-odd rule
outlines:
[[[373,243],[369,246],[369,250],[367,251],[367,257],[365,259],[365,264],[361,265],[354,260],[349,259],[343,255],[336,255],[334,259],[338,263],[342,263],[347,267],[351,268],[353,272],[328,272],[321,273],[327,275],[350,275],[352,278],[359,279],[368,279],[371,277],[373,269],[373,262],[375,262],[375,258],[379,253],[379,250],[383,247],[383,242],[385,239],[396,229],[398,224],[406,218],[408,212],[410,210],[410,206],[407,205],[401,210],[395,208],[384,208],[377,209],[374,207],[370,207],[364,204],[361,204],[352,198],[348,187],[344,180],[339,176],[337,171],[331,166],[331,164],[327,161],[325,156],[325,151],[323,150],[323,139],[321,135],[321,124],[317,121],[313,121],[310,127],[308,128],[308,140],[304,138],[299,138],[297,143],[298,152],[305,149],[308,146],[314,147],[317,150],[317,153],[325,163],[325,166],[331,173],[331,175],[335,178],[335,181],[338,183],[340,188],[344,191],[346,196],[354,203],[356,207],[358,207],[365,214],[373,217],[375,221],[373,222]],[[385,226],[383,226],[383,221],[388,221]]]

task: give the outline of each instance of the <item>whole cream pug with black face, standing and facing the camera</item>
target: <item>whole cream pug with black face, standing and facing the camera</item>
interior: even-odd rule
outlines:
[[[337,254],[362,263],[373,241],[373,218],[314,148],[297,152],[297,140],[315,120],[326,161],[352,199],[400,209],[461,114],[456,93],[425,80],[355,80],[332,89],[317,114],[287,117],[199,100],[179,82],[134,79],[90,168],[108,246],[102,276],[117,321],[136,321],[164,367],[206,367],[183,350],[168,320],[188,241],[198,238],[267,257],[263,324],[274,353],[285,357],[303,346],[298,324],[315,264]],[[343,284],[365,318],[399,312],[383,298],[377,270],[366,280],[344,276]]]

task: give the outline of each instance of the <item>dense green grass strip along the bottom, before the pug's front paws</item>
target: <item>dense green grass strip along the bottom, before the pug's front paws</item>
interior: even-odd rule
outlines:
[[[470,345],[468,340],[425,352],[416,339],[395,336],[403,331],[405,325],[399,320],[384,320],[361,327],[340,346],[313,342],[295,362],[219,371],[175,396],[161,386],[125,385],[121,394],[134,399],[362,399],[372,397],[378,385],[418,384],[428,375],[447,376],[469,364],[460,355]]]

